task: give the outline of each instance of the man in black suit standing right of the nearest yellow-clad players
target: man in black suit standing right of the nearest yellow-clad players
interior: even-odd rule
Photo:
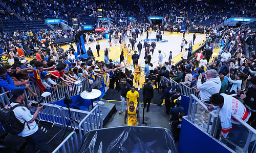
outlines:
[[[146,85],[143,87],[143,98],[144,98],[144,107],[146,107],[146,112],[150,111],[150,102],[154,97],[154,89],[153,86],[151,85],[151,81],[147,81]]]

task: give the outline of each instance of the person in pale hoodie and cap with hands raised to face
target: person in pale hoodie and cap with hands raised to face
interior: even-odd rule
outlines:
[[[211,107],[210,96],[212,94],[216,94],[220,92],[221,89],[221,80],[219,74],[216,70],[211,69],[208,70],[204,74],[205,82],[202,83],[202,75],[198,76],[197,81],[197,89],[200,90],[199,95],[201,97],[201,101],[207,106]],[[198,126],[206,127],[209,119],[209,112],[205,110],[205,108],[198,104],[197,105],[197,118],[198,118]]]

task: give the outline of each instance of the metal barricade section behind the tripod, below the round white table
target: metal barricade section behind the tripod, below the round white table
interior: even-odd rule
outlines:
[[[62,107],[62,115],[63,115],[63,120],[64,120],[64,126],[66,127],[67,124],[69,123],[69,119],[70,119],[70,115],[69,115],[69,109],[67,107]],[[90,112],[87,111],[81,111],[81,110],[76,110],[73,108],[70,108],[70,112],[71,112],[71,117],[72,119],[76,120],[78,123],[81,122],[81,120],[86,117],[88,114],[90,114]],[[78,125],[76,123],[70,125],[70,128],[77,128],[78,129]]]

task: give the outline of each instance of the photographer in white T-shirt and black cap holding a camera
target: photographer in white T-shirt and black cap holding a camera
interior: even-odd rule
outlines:
[[[12,90],[11,94],[11,107],[23,103],[25,99],[24,90],[15,89]],[[43,107],[44,105],[38,106],[34,115],[30,114],[30,111],[26,106],[17,106],[13,109],[16,118],[22,123],[26,122],[23,131],[18,134],[18,136],[24,137],[27,141],[25,152],[36,152],[37,148],[35,144],[38,145],[40,152],[49,152],[45,135],[42,133],[42,130],[38,128],[38,125],[35,122],[38,113]]]

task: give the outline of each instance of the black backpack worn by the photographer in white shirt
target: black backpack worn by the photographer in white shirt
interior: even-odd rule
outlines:
[[[11,108],[4,107],[2,110],[0,110],[0,122],[2,126],[5,128],[6,132],[9,134],[17,135],[21,133],[25,127],[25,121],[24,123],[20,122],[14,112],[12,111],[14,108],[19,106],[25,106],[23,104],[17,104]],[[28,122],[27,126],[30,129]]]

